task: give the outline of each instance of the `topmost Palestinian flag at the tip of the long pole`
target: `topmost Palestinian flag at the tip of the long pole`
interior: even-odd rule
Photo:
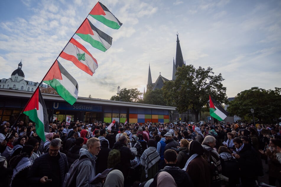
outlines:
[[[89,15],[112,29],[119,29],[123,24],[100,2],[94,6]]]

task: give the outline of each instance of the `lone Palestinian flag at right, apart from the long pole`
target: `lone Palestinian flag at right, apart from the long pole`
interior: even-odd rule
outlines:
[[[220,104],[210,95],[209,95],[209,99],[210,99],[210,115],[219,121],[224,120],[227,117],[228,112],[225,111],[225,109],[223,109],[222,106],[220,106]]]

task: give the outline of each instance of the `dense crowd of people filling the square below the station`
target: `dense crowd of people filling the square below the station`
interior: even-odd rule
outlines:
[[[32,122],[2,123],[0,187],[255,186],[264,173],[269,185],[281,185],[278,124],[54,121],[49,127],[42,141]],[[107,177],[95,179],[104,171]]]

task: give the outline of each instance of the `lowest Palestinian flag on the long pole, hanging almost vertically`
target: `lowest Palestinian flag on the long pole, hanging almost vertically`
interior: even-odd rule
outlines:
[[[47,109],[39,88],[35,90],[35,93],[22,113],[27,115],[29,119],[35,123],[36,133],[45,142],[45,132],[49,133],[50,129]]]

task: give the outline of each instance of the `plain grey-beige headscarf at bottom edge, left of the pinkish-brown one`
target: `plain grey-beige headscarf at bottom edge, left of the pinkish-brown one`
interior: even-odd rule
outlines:
[[[103,187],[123,187],[124,176],[120,170],[112,170],[108,173]]]

